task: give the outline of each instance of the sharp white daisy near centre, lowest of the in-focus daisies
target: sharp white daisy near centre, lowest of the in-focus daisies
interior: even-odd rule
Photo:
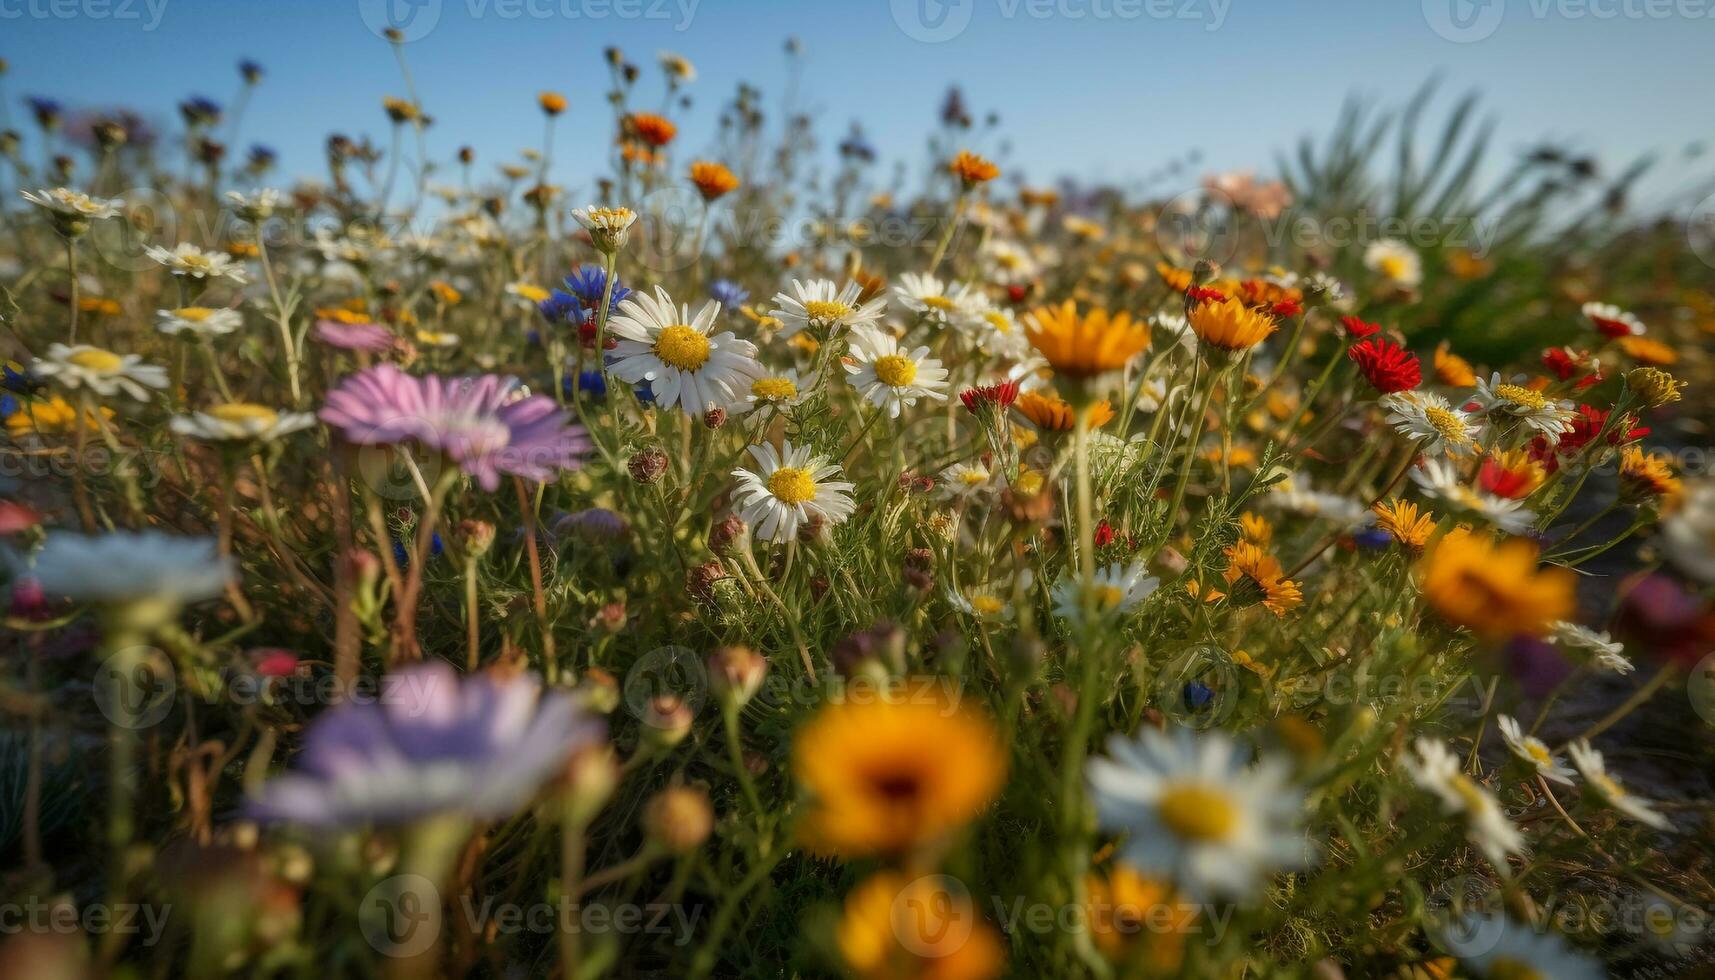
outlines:
[[[760,541],[792,541],[797,529],[816,520],[844,523],[851,517],[852,484],[840,481],[839,463],[816,455],[809,446],[751,446],[756,470],[736,469],[739,481],[734,505],[739,517]]]

